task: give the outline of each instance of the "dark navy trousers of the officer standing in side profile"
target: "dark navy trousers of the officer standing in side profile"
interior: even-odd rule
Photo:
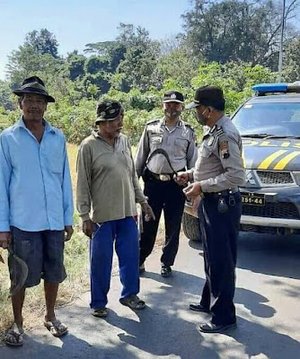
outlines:
[[[200,304],[212,312],[216,325],[235,323],[234,289],[237,236],[242,214],[239,192],[234,193],[234,206],[225,203],[226,213],[217,209],[219,197],[206,194],[199,204],[199,223],[203,240],[206,283]],[[232,204],[233,205],[233,204]]]

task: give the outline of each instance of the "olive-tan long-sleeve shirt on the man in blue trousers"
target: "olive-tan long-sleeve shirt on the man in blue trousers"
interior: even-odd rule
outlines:
[[[77,158],[77,210],[96,223],[137,215],[146,200],[139,186],[127,136],[110,146],[97,132],[85,138]]]

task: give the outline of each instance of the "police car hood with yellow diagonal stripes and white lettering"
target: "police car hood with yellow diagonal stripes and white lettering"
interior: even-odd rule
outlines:
[[[300,140],[243,138],[246,169],[300,171]]]

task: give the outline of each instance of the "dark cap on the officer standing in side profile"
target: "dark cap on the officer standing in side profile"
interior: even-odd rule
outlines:
[[[186,109],[193,109],[200,105],[224,108],[225,99],[223,91],[217,86],[199,87],[196,90],[194,101],[190,102]]]

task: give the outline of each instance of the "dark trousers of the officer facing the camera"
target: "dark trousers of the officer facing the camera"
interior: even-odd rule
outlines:
[[[181,232],[181,216],[183,213],[185,196],[182,187],[174,180],[162,181],[154,178],[144,177],[145,196],[152,207],[155,221],[145,221],[143,214],[143,232],[139,242],[139,264],[142,265],[154,248],[154,242],[158,230],[159,221],[164,215],[165,242],[162,266],[172,266],[179,247],[179,236]]]

